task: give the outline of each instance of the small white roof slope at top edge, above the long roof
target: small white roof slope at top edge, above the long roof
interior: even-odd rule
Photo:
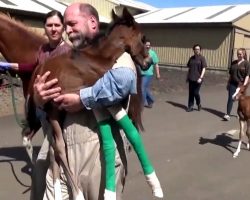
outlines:
[[[135,0],[110,0],[110,1],[118,5],[123,5],[123,6],[131,7],[131,8],[137,8],[137,9],[144,10],[144,11],[151,11],[151,10],[156,9],[155,7],[149,4],[146,4],[140,1],[135,1]]]

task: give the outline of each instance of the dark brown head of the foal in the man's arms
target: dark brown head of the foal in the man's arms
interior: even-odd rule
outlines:
[[[118,39],[115,44],[124,48],[133,58],[134,62],[142,68],[147,65],[148,52],[145,48],[145,36],[139,24],[126,8],[123,9],[122,16],[117,16],[112,10],[113,25],[110,28],[110,37]]]

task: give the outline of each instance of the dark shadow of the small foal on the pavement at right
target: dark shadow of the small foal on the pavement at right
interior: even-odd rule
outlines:
[[[238,142],[238,140],[229,137],[226,133],[216,135],[214,139],[204,138],[204,137],[200,137],[199,139],[199,144],[201,145],[204,145],[207,143],[218,145],[218,146],[225,148],[230,153],[234,153],[232,149],[236,149],[234,146],[231,145],[233,142]]]

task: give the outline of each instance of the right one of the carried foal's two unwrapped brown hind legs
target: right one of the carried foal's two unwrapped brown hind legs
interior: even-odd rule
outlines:
[[[51,117],[51,116],[50,116]],[[64,169],[65,175],[72,189],[73,199],[74,200],[85,200],[81,190],[77,186],[76,176],[70,171],[66,150],[65,142],[62,135],[62,130],[59,122],[56,119],[50,118],[50,123],[54,130],[55,144],[53,145],[55,154],[59,156],[61,160],[61,165]]]

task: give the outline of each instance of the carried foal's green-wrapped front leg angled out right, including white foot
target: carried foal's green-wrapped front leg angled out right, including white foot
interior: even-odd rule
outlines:
[[[120,106],[112,106],[107,108],[122,130],[125,132],[130,144],[133,146],[142,166],[147,183],[152,189],[153,195],[163,198],[163,191],[160,181],[155,174],[155,170],[148,158],[140,133],[129,119],[126,111]]]

